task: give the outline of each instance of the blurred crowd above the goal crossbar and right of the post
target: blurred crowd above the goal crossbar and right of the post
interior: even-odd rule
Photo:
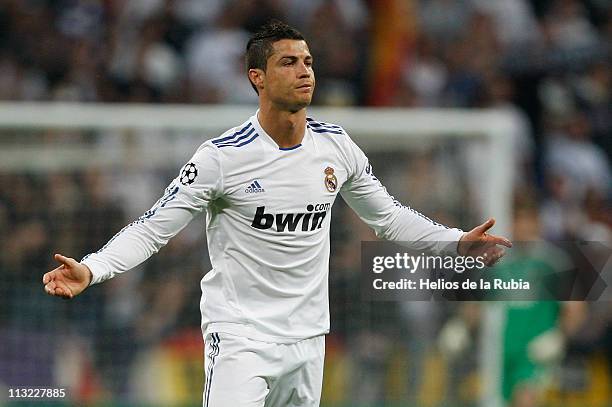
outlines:
[[[525,114],[517,186],[537,188],[546,235],[605,233],[605,0],[6,0],[0,100],[255,103],[243,52],[270,18],[306,36],[315,104]]]

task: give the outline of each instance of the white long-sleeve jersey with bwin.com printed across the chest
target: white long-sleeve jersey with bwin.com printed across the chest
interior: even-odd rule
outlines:
[[[279,343],[325,334],[338,193],[380,238],[456,251],[448,242],[463,232],[394,200],[341,127],[309,118],[302,143],[282,149],[255,114],[202,144],[150,210],[82,263],[100,283],[145,261],[206,211],[213,269],[201,280],[204,334]]]

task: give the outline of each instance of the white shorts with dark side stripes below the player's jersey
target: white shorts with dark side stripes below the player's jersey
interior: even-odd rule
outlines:
[[[204,407],[319,406],[323,335],[281,344],[210,333],[204,350]]]

